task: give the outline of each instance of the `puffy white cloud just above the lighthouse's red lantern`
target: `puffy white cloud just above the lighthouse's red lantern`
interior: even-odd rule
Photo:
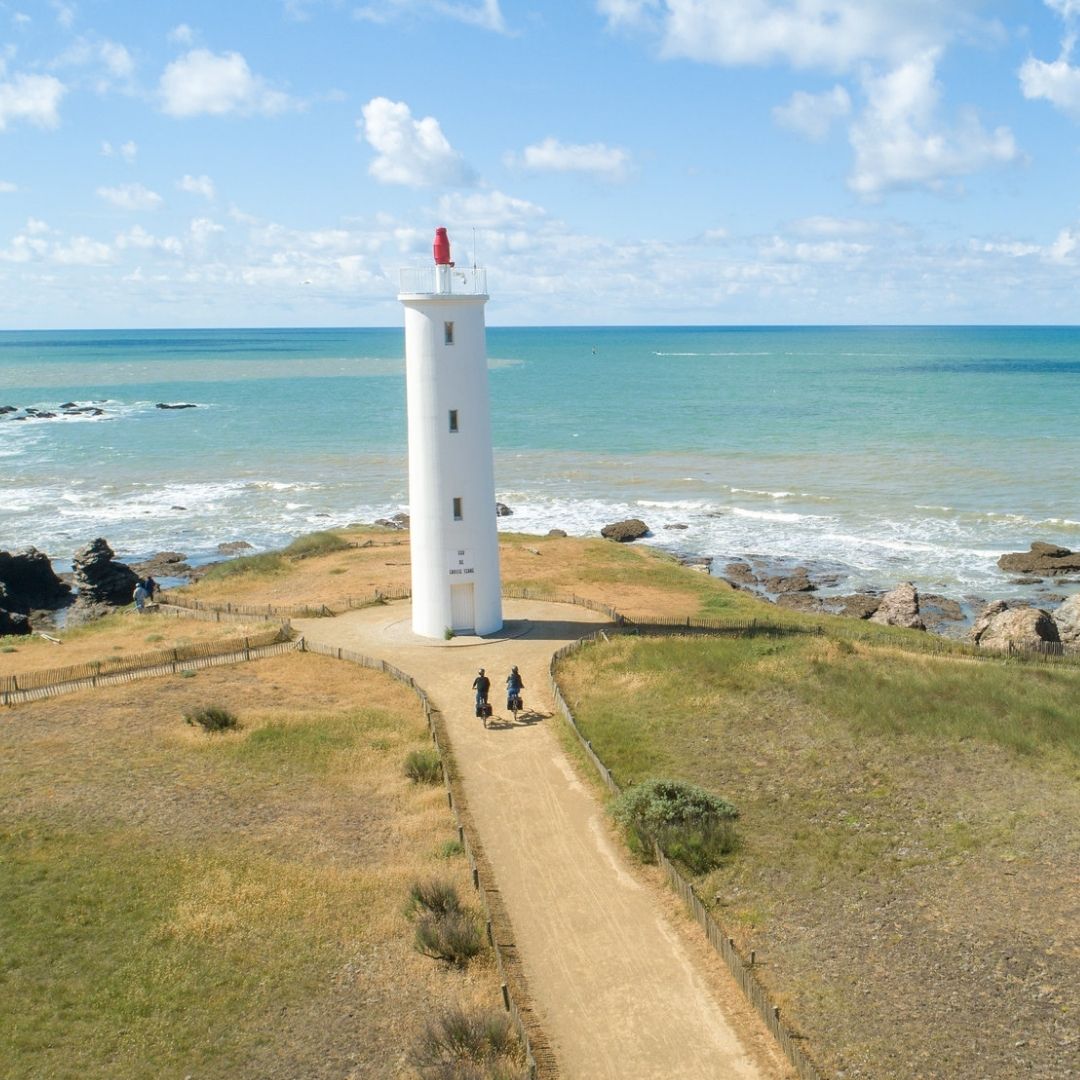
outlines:
[[[433,117],[414,120],[404,102],[374,97],[357,121],[360,136],[376,150],[368,172],[383,184],[410,188],[465,187],[472,170],[450,146]]]

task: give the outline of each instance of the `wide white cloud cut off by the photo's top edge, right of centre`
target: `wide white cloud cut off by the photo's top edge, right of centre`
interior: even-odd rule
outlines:
[[[943,43],[955,4],[934,0],[603,0],[612,27],[650,25],[663,55],[708,64],[785,63],[848,71]],[[964,5],[959,5],[964,6]]]

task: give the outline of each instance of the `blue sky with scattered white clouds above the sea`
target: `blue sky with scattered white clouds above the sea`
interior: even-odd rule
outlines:
[[[0,329],[1080,323],[1080,0],[0,0]]]

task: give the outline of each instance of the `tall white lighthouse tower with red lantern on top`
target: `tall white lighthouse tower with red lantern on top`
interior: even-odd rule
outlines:
[[[502,629],[499,532],[488,404],[487,274],[450,261],[435,230],[433,266],[403,270],[408,392],[413,630]]]

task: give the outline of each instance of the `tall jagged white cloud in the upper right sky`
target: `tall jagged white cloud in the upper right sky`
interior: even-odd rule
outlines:
[[[985,131],[971,110],[961,113],[953,130],[935,125],[936,58],[930,51],[883,76],[864,72],[867,106],[851,127],[855,163],[848,181],[859,194],[873,198],[890,189],[940,187],[945,177],[1016,159],[1012,132]]]

